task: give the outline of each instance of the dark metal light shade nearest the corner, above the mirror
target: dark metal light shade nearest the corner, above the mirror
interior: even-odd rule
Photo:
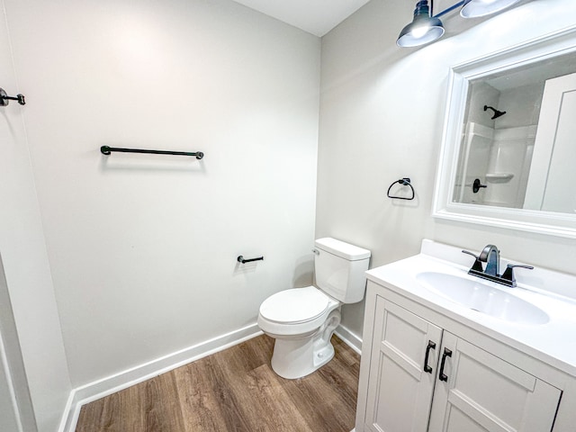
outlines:
[[[412,23],[402,29],[396,43],[399,47],[418,47],[439,39],[443,34],[442,22],[430,16],[428,0],[421,0],[416,4]]]

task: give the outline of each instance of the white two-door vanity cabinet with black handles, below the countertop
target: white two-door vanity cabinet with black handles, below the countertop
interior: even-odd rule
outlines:
[[[534,370],[518,350],[368,281],[356,432],[549,432],[562,392]]]

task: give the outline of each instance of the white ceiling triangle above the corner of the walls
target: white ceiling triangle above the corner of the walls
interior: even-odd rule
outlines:
[[[324,36],[369,0],[234,0],[284,23]]]

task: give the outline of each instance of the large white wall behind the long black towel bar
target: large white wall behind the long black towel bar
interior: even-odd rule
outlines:
[[[6,8],[74,387],[311,283],[319,38],[228,0]]]

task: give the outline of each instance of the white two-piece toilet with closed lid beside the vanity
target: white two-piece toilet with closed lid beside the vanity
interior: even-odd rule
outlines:
[[[272,369],[284,378],[301,378],[332,359],[340,306],[365,294],[369,250],[335,238],[320,238],[315,246],[317,287],[275,293],[260,305],[258,326],[276,339]]]

